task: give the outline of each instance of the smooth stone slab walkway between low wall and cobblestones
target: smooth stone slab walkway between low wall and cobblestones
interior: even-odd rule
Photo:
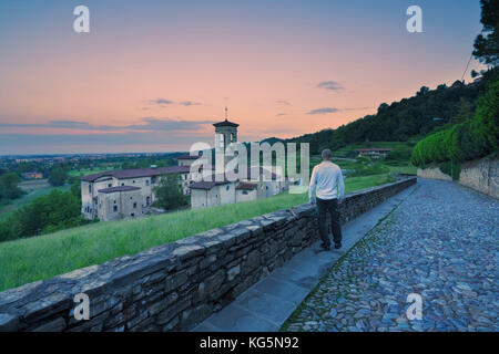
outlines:
[[[243,292],[230,305],[193,329],[194,332],[274,332],[318,284],[328,269],[401,204],[417,185],[385,200],[342,227],[343,248],[320,251],[319,243],[296,254]]]

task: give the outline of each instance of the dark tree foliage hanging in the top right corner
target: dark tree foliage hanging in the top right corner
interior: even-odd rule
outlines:
[[[499,64],[499,0],[480,0],[483,29],[475,40],[473,55],[491,66]]]

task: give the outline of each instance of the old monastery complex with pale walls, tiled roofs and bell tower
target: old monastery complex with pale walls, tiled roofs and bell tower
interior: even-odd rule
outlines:
[[[225,150],[228,144],[237,143],[238,124],[225,118],[213,125],[215,147]],[[161,179],[171,174],[180,176],[179,183],[184,195],[191,197],[192,209],[267,198],[288,189],[287,180],[275,170],[252,167],[247,178],[233,180],[216,176],[212,166],[192,168],[198,157],[179,156],[177,166],[110,170],[81,177],[82,214],[101,221],[139,218],[156,200],[154,189]]]

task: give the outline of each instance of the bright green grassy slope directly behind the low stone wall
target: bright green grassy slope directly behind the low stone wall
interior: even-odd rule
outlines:
[[[346,191],[391,181],[388,175],[352,177]],[[0,243],[0,291],[50,279],[113,258],[134,254],[216,227],[307,201],[306,195],[273,198],[201,210],[185,210],[130,221],[99,222],[55,233]]]

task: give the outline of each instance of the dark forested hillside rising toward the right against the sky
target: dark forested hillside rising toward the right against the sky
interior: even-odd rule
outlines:
[[[451,86],[441,84],[435,90],[422,86],[413,97],[391,104],[381,103],[374,115],[287,142],[309,143],[310,154],[318,154],[324,148],[336,150],[366,142],[406,142],[414,136],[425,136],[446,126],[450,118],[452,123],[470,118],[478,97],[497,75],[498,70],[495,69],[470,84],[456,81]]]

